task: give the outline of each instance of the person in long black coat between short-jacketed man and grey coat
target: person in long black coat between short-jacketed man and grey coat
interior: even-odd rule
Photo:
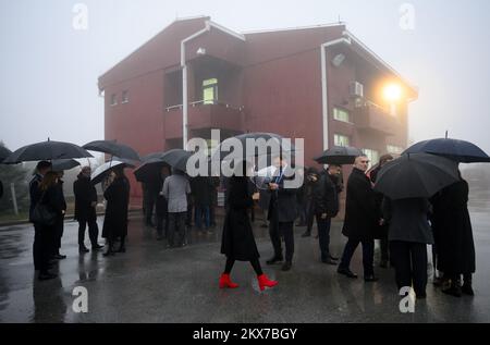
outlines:
[[[124,175],[123,165],[112,168],[110,183],[103,193],[107,200],[106,217],[103,219],[102,237],[108,241],[108,249],[103,256],[125,252],[127,235],[127,207],[130,202],[130,183]],[[114,243],[120,238],[121,245],[114,250]]]

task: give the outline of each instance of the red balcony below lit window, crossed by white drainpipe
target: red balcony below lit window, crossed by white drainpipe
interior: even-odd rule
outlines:
[[[187,121],[189,131],[220,128],[243,132],[243,107],[219,101],[196,101],[188,104]],[[182,137],[182,104],[164,110],[166,138]]]

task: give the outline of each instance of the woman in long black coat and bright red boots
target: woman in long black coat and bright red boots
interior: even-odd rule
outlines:
[[[238,287],[230,279],[233,264],[236,260],[250,261],[257,274],[259,288],[264,291],[266,286],[275,286],[278,282],[269,280],[260,267],[260,256],[248,219],[248,209],[254,202],[248,188],[246,163],[242,162],[238,165],[236,171],[242,173],[235,173],[235,175],[230,177],[228,185],[226,215],[224,219],[223,235],[221,237],[221,254],[226,256],[226,264],[224,272],[221,274],[219,286],[220,288]]]

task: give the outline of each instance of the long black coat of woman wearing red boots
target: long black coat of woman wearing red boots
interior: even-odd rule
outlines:
[[[233,176],[229,180],[228,188],[221,254],[240,261],[257,259],[260,256],[248,219],[248,209],[254,204],[248,188],[248,178]]]

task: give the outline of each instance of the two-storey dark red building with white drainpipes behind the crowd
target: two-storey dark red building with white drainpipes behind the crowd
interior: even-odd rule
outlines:
[[[396,102],[383,98],[388,84],[397,85]],[[100,76],[99,90],[106,138],[142,155],[183,147],[186,113],[188,138],[210,138],[211,128],[222,139],[305,138],[305,164],[332,145],[373,161],[405,148],[407,104],[417,98],[345,24],[238,34],[210,17],[173,22]]]

